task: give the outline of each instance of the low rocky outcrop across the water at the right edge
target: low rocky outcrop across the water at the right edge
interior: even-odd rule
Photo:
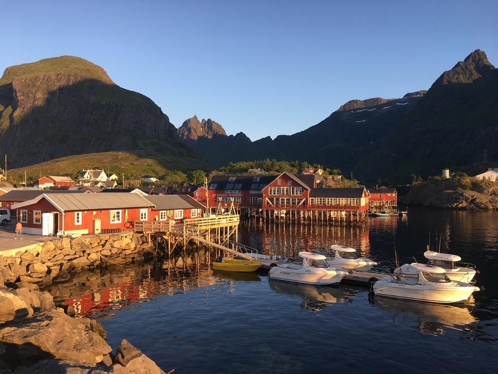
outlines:
[[[413,186],[400,202],[441,209],[497,210],[498,183],[474,178],[433,179]]]

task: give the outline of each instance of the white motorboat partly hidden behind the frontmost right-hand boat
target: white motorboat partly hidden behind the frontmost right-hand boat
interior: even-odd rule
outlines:
[[[424,257],[427,258],[427,262],[432,266],[439,266],[446,270],[446,275],[448,278],[454,281],[470,283],[477,271],[475,265],[472,264],[462,264],[460,266],[457,261],[461,261],[462,258],[456,254],[440,253],[434,251],[426,251]],[[394,270],[396,273],[398,269]],[[413,269],[404,269],[403,275],[405,277],[418,277],[418,272]]]

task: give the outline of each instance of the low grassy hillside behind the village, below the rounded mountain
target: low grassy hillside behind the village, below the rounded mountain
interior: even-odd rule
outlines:
[[[75,155],[46,161],[41,164],[7,171],[8,181],[20,183],[24,181],[24,171],[28,180],[38,179],[40,172],[46,175],[71,175],[88,168],[108,167],[111,173],[125,178],[139,178],[143,175],[164,176],[170,171],[188,172],[195,169],[210,170],[210,166],[190,155],[177,156],[175,153],[158,153],[154,150],[114,151]],[[7,160],[8,162],[8,160]],[[167,166],[167,167],[166,167]]]

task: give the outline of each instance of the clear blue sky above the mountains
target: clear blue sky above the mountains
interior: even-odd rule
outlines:
[[[427,89],[470,52],[498,65],[498,1],[3,1],[0,69],[76,55],[252,140],[351,99]]]

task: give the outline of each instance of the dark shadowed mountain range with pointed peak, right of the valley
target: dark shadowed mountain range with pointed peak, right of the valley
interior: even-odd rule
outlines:
[[[352,100],[293,135],[251,142],[239,133],[192,142],[216,166],[229,162],[305,160],[359,179],[405,183],[443,168],[498,161],[498,69],[481,50],[445,71],[427,91],[399,99]],[[486,150],[486,151],[485,151]]]

